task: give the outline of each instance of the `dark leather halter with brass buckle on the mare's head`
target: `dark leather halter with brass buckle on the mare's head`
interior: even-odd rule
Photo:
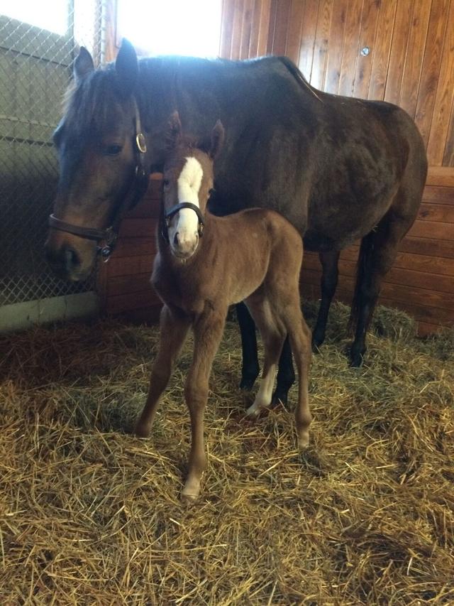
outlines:
[[[53,214],[49,217],[49,225],[50,227],[53,227],[53,229],[59,229],[60,232],[67,232],[68,234],[74,234],[74,236],[95,240],[96,242],[104,242],[103,246],[97,247],[97,254],[101,255],[104,262],[109,261],[109,257],[114,251],[116,239],[118,237],[118,227],[123,219],[123,215],[138,204],[139,200],[143,197],[148,188],[149,175],[145,170],[145,153],[147,151],[147,144],[145,141],[145,136],[142,132],[142,127],[140,125],[140,114],[135,98],[133,98],[133,104],[135,112],[134,142],[136,164],[133,185],[129,192],[129,194],[132,193],[131,201],[130,196],[128,194],[125,195],[123,202],[121,202],[115,212],[114,221],[112,222],[111,226],[107,227],[106,229],[94,229],[92,227],[74,225],[58,219]]]

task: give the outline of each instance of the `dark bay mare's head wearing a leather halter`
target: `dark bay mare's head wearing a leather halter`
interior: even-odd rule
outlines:
[[[111,226],[144,193],[149,166],[133,46],[123,40],[116,62],[97,70],[81,48],[73,71],[53,135],[60,179],[45,251],[55,273],[79,281],[89,276],[97,251],[109,254]]]

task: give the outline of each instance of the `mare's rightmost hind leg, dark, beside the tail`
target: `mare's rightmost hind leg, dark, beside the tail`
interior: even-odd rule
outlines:
[[[414,222],[390,208],[374,231],[362,239],[358,275],[350,313],[350,328],[356,323],[355,340],[350,347],[350,365],[359,367],[366,351],[366,332],[380,294],[382,279],[391,269],[397,247]]]

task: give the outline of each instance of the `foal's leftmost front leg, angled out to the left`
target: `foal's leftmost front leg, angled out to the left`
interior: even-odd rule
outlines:
[[[173,312],[167,305],[162,308],[159,351],[151,371],[147,401],[135,424],[135,435],[140,438],[146,438],[150,435],[157,404],[162,391],[167,387],[172,368],[182,348],[190,324],[190,320],[186,316]]]

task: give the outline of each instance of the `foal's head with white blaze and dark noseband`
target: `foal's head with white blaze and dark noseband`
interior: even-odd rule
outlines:
[[[170,117],[164,164],[163,205],[170,250],[189,259],[202,233],[202,220],[213,188],[213,161],[221,149],[224,129],[218,120],[208,144],[183,136],[178,113]],[[192,207],[180,207],[189,202]],[[195,208],[194,208],[195,207]]]

